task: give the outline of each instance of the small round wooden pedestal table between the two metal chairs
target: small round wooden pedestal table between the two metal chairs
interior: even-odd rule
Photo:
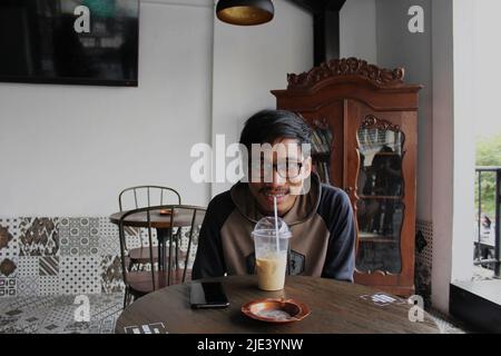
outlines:
[[[115,212],[109,217],[110,222],[118,225],[121,217],[128,211]],[[193,211],[179,209],[176,210],[173,219],[173,226],[170,225],[170,215],[163,215],[160,210],[150,210],[151,227],[157,230],[158,240],[158,265],[161,269],[167,270],[167,251],[166,243],[170,236],[170,229],[173,227],[190,226],[193,219]],[[130,227],[148,227],[147,212],[135,212],[127,216],[124,220],[125,226]]]

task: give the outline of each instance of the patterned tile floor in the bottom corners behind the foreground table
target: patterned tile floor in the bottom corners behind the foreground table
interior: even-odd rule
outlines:
[[[76,322],[82,305],[75,296],[38,296],[0,299],[0,334],[111,334],[121,313],[122,294],[89,295],[90,322]],[[77,303],[76,303],[77,301]],[[441,333],[463,334],[459,322],[428,310]],[[84,316],[84,314],[79,314]]]

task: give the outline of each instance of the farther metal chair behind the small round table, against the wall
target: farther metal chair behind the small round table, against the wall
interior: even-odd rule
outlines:
[[[181,204],[179,192],[169,187],[163,186],[137,186],[126,188],[118,195],[118,205],[120,211],[147,208],[151,206],[161,206],[165,204]],[[130,230],[134,234],[134,228]],[[137,231],[136,231],[137,233]],[[127,239],[124,240],[127,253],[127,261],[129,268],[137,266],[140,268],[150,260],[149,248],[145,246],[145,241],[140,234],[138,234],[139,247],[130,248],[127,245]],[[158,255],[154,250],[154,259],[158,260]]]

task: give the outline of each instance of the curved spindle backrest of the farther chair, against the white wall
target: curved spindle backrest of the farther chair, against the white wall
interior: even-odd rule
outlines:
[[[179,192],[169,187],[137,186],[126,188],[118,195],[120,211],[168,204],[181,204]]]

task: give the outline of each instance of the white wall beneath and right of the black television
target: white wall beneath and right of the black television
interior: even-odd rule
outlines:
[[[212,1],[143,1],[139,41],[139,88],[0,83],[0,216],[107,216],[138,184],[206,204],[188,155],[210,135]]]

